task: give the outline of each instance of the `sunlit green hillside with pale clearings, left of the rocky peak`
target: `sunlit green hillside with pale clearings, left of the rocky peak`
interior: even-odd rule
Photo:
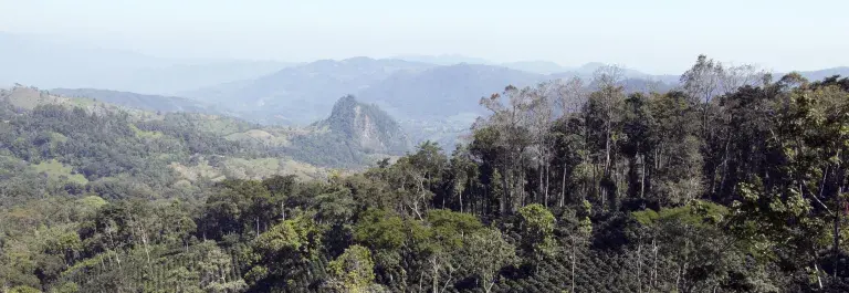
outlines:
[[[328,172],[308,163],[317,161],[310,160],[319,157],[315,149],[291,142],[310,132],[263,129],[224,116],[157,114],[15,86],[0,92],[0,206],[48,195],[193,199],[224,178],[308,180]],[[350,145],[347,153],[358,147]],[[377,160],[365,154],[346,158],[322,166]]]

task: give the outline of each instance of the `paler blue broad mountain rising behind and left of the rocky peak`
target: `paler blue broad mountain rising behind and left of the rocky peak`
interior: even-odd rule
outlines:
[[[306,124],[331,111],[339,96],[357,93],[399,71],[421,71],[432,66],[389,59],[322,60],[185,95],[226,105],[259,122]]]

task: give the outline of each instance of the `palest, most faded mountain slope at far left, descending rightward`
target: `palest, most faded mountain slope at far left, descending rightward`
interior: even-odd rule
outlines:
[[[292,63],[163,59],[51,36],[0,32],[0,85],[90,87],[172,95],[224,82],[255,79]]]

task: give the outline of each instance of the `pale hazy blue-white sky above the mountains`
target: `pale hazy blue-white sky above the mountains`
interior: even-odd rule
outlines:
[[[156,56],[463,54],[656,74],[700,53],[776,71],[849,65],[847,0],[0,0],[0,31]]]

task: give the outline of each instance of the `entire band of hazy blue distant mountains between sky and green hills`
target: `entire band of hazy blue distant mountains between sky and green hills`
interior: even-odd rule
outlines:
[[[350,57],[307,63],[177,60],[0,33],[0,84],[21,83],[55,93],[163,112],[224,114],[262,124],[308,125],[354,95],[396,117],[410,139],[452,144],[484,109],[479,98],[505,85],[580,76],[604,63],[566,67],[547,61],[491,62],[462,55]],[[849,67],[803,72],[819,80]],[[780,75],[780,74],[776,74]],[[679,75],[623,71],[627,90],[672,88]],[[77,88],[77,90],[74,90]],[[82,88],[82,90],[78,90]]]

